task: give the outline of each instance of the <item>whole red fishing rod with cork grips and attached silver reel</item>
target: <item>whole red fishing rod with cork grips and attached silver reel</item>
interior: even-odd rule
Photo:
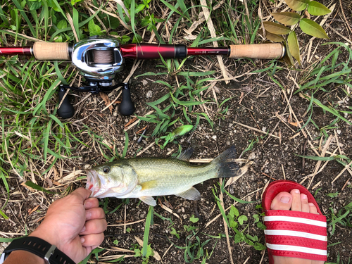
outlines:
[[[87,86],[71,87],[61,84],[58,89],[60,101],[66,89],[98,94],[122,87],[119,111],[122,115],[132,115],[134,103],[131,100],[130,87],[127,83],[113,85],[115,74],[123,69],[125,58],[160,59],[163,57],[168,59],[221,55],[229,58],[275,59],[282,58],[285,49],[279,43],[230,45],[221,48],[192,48],[180,44],[121,45],[118,39],[113,37],[92,36],[75,45],[67,42],[34,42],[33,46],[3,46],[0,47],[0,54],[34,56],[39,61],[72,61],[79,68]],[[62,118],[71,118],[74,115],[73,106],[67,97],[58,108],[58,115]]]

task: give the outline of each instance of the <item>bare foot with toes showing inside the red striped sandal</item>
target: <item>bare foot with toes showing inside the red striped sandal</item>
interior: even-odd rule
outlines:
[[[305,213],[319,214],[313,203],[308,203],[306,194],[300,194],[298,189],[290,193],[282,191],[272,200],[271,210],[297,210]],[[324,264],[324,261],[306,260],[302,258],[288,258],[273,256],[275,264]]]

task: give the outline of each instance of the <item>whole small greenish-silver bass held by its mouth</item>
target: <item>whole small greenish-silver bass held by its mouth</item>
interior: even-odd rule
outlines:
[[[149,206],[156,206],[153,196],[176,195],[199,200],[201,194],[193,186],[206,180],[239,175],[234,161],[236,148],[231,146],[210,163],[189,163],[192,148],[177,158],[122,158],[97,165],[87,172],[86,189],[91,197],[139,198]]]

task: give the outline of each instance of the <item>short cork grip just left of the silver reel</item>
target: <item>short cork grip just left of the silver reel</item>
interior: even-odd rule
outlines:
[[[70,60],[67,42],[35,42],[33,45],[33,53],[34,57],[39,61]]]

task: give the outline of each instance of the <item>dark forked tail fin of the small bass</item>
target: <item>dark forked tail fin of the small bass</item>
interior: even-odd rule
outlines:
[[[215,178],[234,177],[239,172],[239,165],[234,161],[237,151],[235,146],[222,152],[211,162],[218,167],[218,173]]]

